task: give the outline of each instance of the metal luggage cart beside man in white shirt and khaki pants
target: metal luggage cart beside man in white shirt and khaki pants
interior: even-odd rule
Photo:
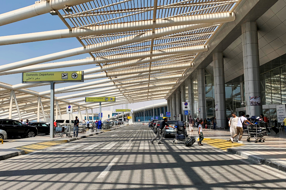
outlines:
[[[250,142],[250,138],[255,138],[254,142],[265,142],[264,136],[267,136],[265,127],[259,127],[257,124],[247,124],[248,137],[247,142]]]

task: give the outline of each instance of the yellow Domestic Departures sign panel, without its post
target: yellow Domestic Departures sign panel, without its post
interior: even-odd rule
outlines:
[[[22,83],[84,82],[84,71],[24,72]]]

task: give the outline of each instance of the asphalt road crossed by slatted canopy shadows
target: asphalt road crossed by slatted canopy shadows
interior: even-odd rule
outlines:
[[[133,125],[0,161],[8,189],[285,189],[286,173],[210,145],[158,145]],[[205,137],[207,138],[207,137]]]

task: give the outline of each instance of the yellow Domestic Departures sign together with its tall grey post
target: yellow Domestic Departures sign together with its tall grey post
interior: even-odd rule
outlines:
[[[50,138],[54,138],[54,101],[56,82],[84,82],[84,71],[55,71],[55,72],[23,72],[22,83],[51,83],[50,101]]]

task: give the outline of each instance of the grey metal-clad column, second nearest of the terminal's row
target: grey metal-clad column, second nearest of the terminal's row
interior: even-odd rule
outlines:
[[[223,65],[223,53],[218,52],[212,54],[212,60],[214,65],[215,107],[217,107],[215,115],[217,126],[224,128],[227,125],[227,113],[225,104],[225,71]]]

